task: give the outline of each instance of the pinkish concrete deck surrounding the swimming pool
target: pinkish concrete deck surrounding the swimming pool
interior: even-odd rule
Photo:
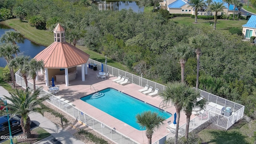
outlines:
[[[114,88],[116,90],[129,94],[131,96],[134,96],[135,98],[138,98],[144,102],[152,104],[153,106],[159,107],[160,103],[162,102],[162,99],[160,98],[160,96],[151,97],[151,96],[142,94],[141,92],[138,92],[138,90],[142,89],[143,87],[138,86],[136,84],[130,83],[125,86],[117,84],[116,82],[112,81],[113,79],[116,78],[112,75],[110,75],[109,78],[107,78],[106,80],[102,80],[101,78],[97,79],[96,73],[98,73],[98,71],[94,71],[93,69],[90,69],[90,68],[88,68],[88,74],[85,75],[85,81],[82,82],[81,66],[77,66],[77,71],[78,71],[78,74],[76,76],[76,79],[70,81],[69,86],[65,86],[65,83],[63,82],[54,82],[55,85],[60,86],[60,95],[58,96],[61,96],[66,100],[69,100],[75,105],[76,108],[80,109],[81,111],[88,114],[89,116],[92,116],[93,118],[99,120],[100,122],[106,124],[107,126],[116,128],[118,132],[126,135],[132,140],[135,140],[140,144],[146,144],[148,141],[145,134],[146,130],[137,130],[136,128],[133,128],[132,126],[129,126],[128,124],[114,118],[113,116],[110,116],[109,114],[91,106],[90,104],[87,104],[86,102],[80,100],[80,98],[88,94],[94,93],[95,92],[94,88],[96,90],[102,90],[104,88]],[[41,74],[41,72],[38,72],[38,74],[39,74],[39,80],[36,81],[36,85],[43,86],[43,89],[47,91],[48,86],[45,85],[43,75]],[[29,81],[32,82],[32,79],[29,79]],[[170,112],[171,114],[174,114],[176,112],[174,106],[169,106],[164,110],[166,110],[167,112]],[[191,119],[192,118],[194,118],[194,115],[191,115]],[[170,118],[164,121],[164,125],[160,129],[154,132],[152,136],[152,142],[159,140],[160,138],[164,137],[167,134],[166,133],[167,121],[171,120],[173,122],[173,119],[174,117],[171,116]],[[186,123],[186,115],[182,111],[180,113],[180,126],[185,123]]]

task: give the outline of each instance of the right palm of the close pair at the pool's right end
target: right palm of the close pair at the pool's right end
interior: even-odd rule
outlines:
[[[189,123],[190,123],[190,116],[192,114],[192,110],[194,108],[200,108],[201,110],[204,109],[206,100],[200,99],[200,91],[194,90],[193,88],[188,87],[186,90],[187,96],[190,98],[188,103],[184,106],[184,112],[186,114],[186,128],[185,128],[185,138],[188,139],[188,131],[189,131]]]

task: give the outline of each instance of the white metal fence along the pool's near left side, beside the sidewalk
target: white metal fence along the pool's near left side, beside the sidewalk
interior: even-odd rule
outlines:
[[[15,77],[16,77],[16,83],[22,86],[23,88],[26,88],[25,82],[23,78],[20,76],[19,71],[16,72]],[[32,88],[33,84],[31,82],[28,82],[28,86]],[[112,140],[116,144],[139,144],[138,142],[132,140],[131,138],[125,136],[124,134],[117,132],[110,126],[107,126],[106,124],[96,120],[95,118],[92,118],[88,114],[85,114],[81,110],[64,102],[60,98],[57,98],[56,96],[50,94],[49,92],[46,92],[41,88],[40,96],[46,96],[46,95],[50,95],[50,99],[47,100],[47,102],[49,102],[53,106],[56,106],[60,110],[66,112],[68,115],[72,116],[73,118],[80,120],[90,128],[94,129],[95,131],[102,134],[106,138]]]

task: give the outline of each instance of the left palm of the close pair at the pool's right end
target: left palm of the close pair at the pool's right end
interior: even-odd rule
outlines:
[[[180,111],[190,102],[190,95],[187,94],[188,87],[184,82],[172,82],[166,85],[166,89],[159,93],[164,103],[172,102],[177,114],[177,124],[174,144],[178,143],[178,132],[180,123]]]

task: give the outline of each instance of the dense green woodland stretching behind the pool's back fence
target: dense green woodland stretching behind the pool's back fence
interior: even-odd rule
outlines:
[[[86,7],[77,0],[1,1],[1,6],[11,11],[22,6],[26,10],[24,20],[40,16],[48,30],[52,30],[60,18],[70,42],[76,39],[75,43],[160,83],[181,80],[174,46],[180,42],[189,44],[191,37],[203,35],[198,88],[245,105],[245,113],[256,118],[256,47],[243,42],[236,34],[180,25],[168,20],[161,11],[99,11],[94,4]],[[196,86],[196,66],[194,53],[188,58],[184,72],[185,82],[190,86]]]

